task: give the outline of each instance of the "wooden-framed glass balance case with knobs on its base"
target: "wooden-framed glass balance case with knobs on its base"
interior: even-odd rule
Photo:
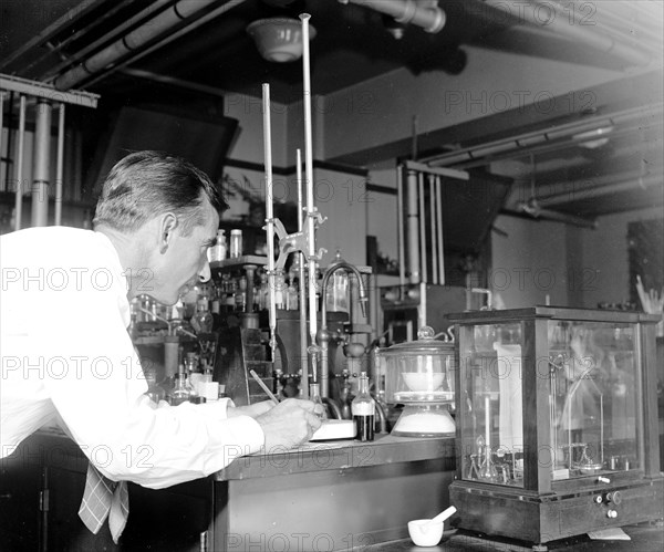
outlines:
[[[452,314],[458,525],[537,544],[663,515],[657,316]]]

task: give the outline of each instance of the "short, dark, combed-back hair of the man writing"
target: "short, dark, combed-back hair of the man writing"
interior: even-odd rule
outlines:
[[[108,173],[93,225],[132,232],[154,217],[173,212],[187,236],[204,223],[200,206],[206,197],[219,213],[228,209],[210,178],[189,162],[164,152],[136,152]]]

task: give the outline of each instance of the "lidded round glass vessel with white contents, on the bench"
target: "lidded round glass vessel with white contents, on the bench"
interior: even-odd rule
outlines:
[[[454,343],[436,340],[430,326],[423,326],[417,337],[378,353],[385,363],[385,400],[404,405],[392,435],[453,436]]]

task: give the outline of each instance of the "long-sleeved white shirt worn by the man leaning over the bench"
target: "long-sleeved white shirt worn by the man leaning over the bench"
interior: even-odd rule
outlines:
[[[9,233],[0,269],[0,458],[56,418],[106,477],[154,489],[260,450],[259,424],[227,418],[227,400],[155,408],[144,395],[126,278],[104,235]]]

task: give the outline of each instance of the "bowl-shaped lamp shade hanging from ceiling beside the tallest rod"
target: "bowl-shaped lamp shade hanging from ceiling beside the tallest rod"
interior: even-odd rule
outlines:
[[[247,32],[268,61],[286,63],[302,56],[302,24],[298,19],[259,19],[247,27]],[[314,37],[315,29],[310,25],[309,38]]]

